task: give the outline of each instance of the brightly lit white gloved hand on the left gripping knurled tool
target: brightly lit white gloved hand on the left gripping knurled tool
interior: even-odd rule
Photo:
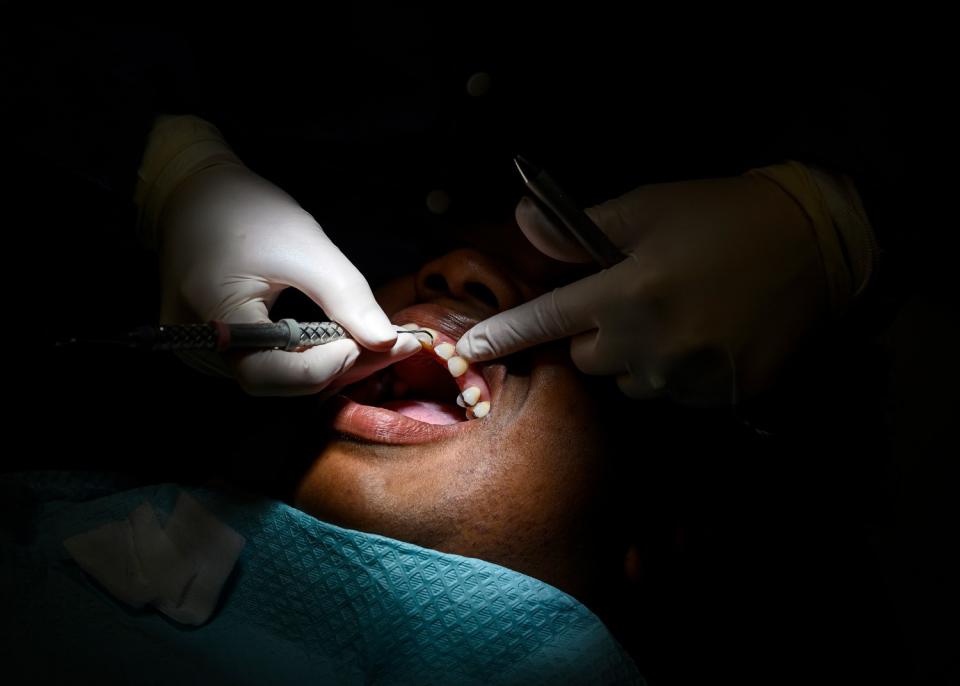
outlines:
[[[366,280],[313,217],[243,166],[216,129],[178,117],[158,130],[138,204],[160,252],[161,321],[270,321],[270,307],[292,286],[354,338],[304,352],[190,354],[188,362],[226,371],[252,394],[297,395],[324,389],[351,367],[372,373],[420,349],[414,336],[397,336]],[[361,346],[369,350],[361,354]]]

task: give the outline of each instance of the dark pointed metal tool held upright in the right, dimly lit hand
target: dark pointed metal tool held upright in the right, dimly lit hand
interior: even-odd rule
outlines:
[[[559,224],[551,221],[554,228],[561,231],[566,228],[587,254],[604,269],[626,257],[547,172],[520,155],[517,155],[513,162],[527,188],[540,202],[541,209],[545,208],[547,215],[553,215],[553,218],[560,221]]]

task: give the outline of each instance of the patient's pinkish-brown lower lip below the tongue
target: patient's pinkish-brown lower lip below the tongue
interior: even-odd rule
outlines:
[[[496,409],[500,388],[506,377],[506,367],[491,365],[483,370],[490,387],[491,404]],[[361,405],[344,396],[331,400],[333,429],[354,438],[389,445],[417,445],[451,438],[475,430],[490,417],[457,424],[427,424],[383,407]],[[493,412],[491,412],[491,415]]]

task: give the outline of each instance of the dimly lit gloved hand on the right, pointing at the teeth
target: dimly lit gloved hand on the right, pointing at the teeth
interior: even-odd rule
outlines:
[[[587,210],[626,259],[479,323],[458,354],[481,361],[572,336],[576,366],[616,375],[631,397],[724,405],[767,389],[804,337],[869,276],[869,261],[852,271],[836,263],[843,236],[869,230],[865,215],[839,231],[829,211],[836,205],[810,170],[789,165],[643,186]],[[541,252],[587,260],[529,199],[516,218]],[[844,245],[866,249],[853,242]]]

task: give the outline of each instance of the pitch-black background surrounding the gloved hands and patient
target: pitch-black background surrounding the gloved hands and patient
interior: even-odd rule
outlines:
[[[156,320],[155,257],[129,202],[154,112],[220,127],[373,283],[454,245],[456,227],[509,220],[517,152],[584,205],[640,183],[818,162],[856,179],[887,253],[882,281],[744,408],[769,435],[636,408],[648,433],[624,459],[644,583],[607,619],[653,684],[956,678],[945,627],[958,339],[946,243],[911,190],[914,141],[930,134],[918,122],[932,120],[929,71],[910,49],[776,22],[705,41],[641,8],[364,5],[307,18],[271,4],[242,28],[166,9],[150,25],[4,29],[18,446],[4,469],[230,473],[282,494],[281,467],[320,440],[304,430],[310,399],[248,398],[170,357],[51,345]],[[489,89],[470,95],[478,72]],[[427,207],[437,190],[443,214]],[[295,296],[279,307],[305,309]]]

